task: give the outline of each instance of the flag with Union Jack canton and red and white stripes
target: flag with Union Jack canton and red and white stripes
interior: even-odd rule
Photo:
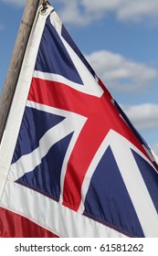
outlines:
[[[1,237],[158,237],[158,165],[57,13],[37,13],[0,148]]]

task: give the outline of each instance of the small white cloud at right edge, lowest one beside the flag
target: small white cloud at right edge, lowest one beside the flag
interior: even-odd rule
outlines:
[[[158,104],[144,103],[121,107],[138,130],[152,131],[158,129]]]

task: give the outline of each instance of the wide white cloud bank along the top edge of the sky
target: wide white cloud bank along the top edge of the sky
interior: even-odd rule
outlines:
[[[140,22],[146,19],[155,21],[158,17],[158,0],[58,0],[58,2],[62,3],[60,14],[63,20],[72,25],[87,25],[110,12],[124,21]]]

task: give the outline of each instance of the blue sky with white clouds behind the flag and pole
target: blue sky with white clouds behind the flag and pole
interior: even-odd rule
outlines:
[[[158,155],[158,0],[49,0]],[[0,91],[26,0],[0,0]]]

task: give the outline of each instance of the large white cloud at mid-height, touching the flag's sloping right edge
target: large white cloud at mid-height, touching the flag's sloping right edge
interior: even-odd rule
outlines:
[[[114,91],[149,90],[158,76],[156,69],[107,50],[93,52],[86,58],[101,80]]]

